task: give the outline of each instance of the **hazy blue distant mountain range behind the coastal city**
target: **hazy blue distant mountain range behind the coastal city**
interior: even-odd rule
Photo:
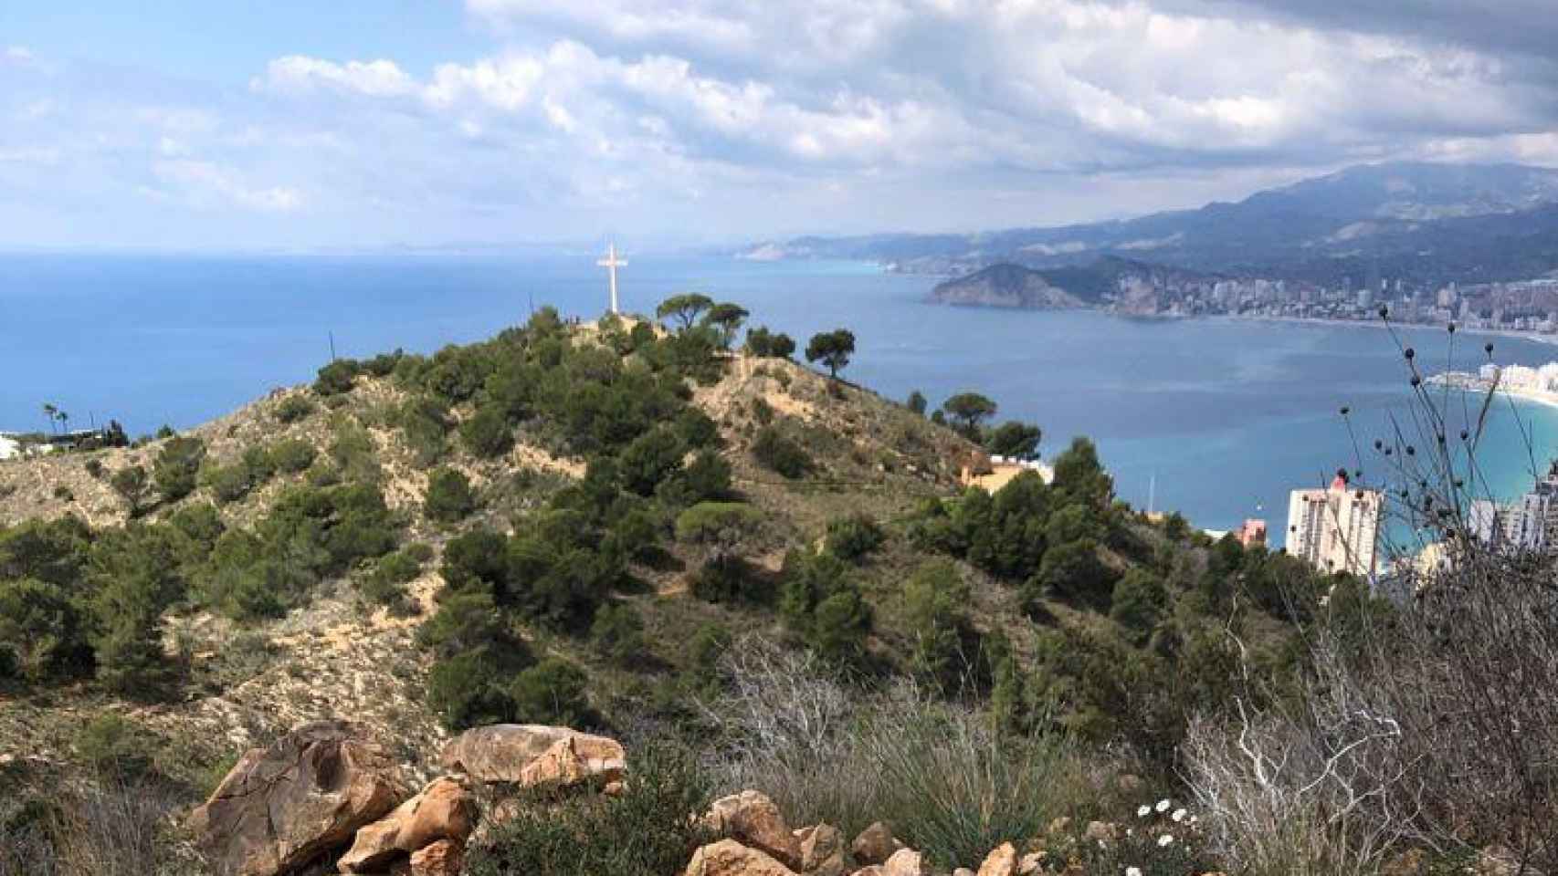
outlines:
[[[1416,283],[1541,277],[1558,269],[1558,171],[1522,165],[1360,165],[1237,204],[1136,219],[968,235],[804,237],[746,258],[857,258],[963,275],[1130,260],[1321,285],[1366,275]],[[1100,280],[1105,269],[1087,271]],[[1092,282],[1087,280],[1087,282]],[[1067,286],[1070,288],[1070,286]]]

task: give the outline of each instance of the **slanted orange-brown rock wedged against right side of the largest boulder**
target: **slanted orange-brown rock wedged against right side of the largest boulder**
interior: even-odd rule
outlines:
[[[447,776],[433,780],[394,812],[357,831],[337,867],[341,873],[375,873],[435,842],[464,848],[475,820],[475,800],[464,784]]]

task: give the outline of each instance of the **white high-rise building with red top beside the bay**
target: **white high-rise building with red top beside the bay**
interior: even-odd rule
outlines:
[[[1382,507],[1380,493],[1351,489],[1346,471],[1337,471],[1327,489],[1293,490],[1287,552],[1323,571],[1373,577]]]

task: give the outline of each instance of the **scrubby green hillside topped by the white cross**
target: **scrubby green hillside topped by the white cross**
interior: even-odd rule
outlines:
[[[1052,484],[964,492],[985,447],[1020,456],[1038,431],[986,425],[972,394],[927,419],[760,327],[732,350],[732,305],[662,310],[671,328],[542,311],[433,356],[330,363],[142,447],[0,464],[0,831],[23,856],[0,873],[36,871],[26,850],[70,873],[206,871],[209,831],[179,825],[240,753],[355,733],[310,724],[341,720],[411,786],[444,775],[455,733],[500,722],[671,745],[706,792],[757,786],[849,836],[891,817],[947,871],[1175,794],[1175,752],[1242,689],[1239,655],[1285,677],[1321,597],[1355,594],[1148,521],[1086,440]],[[1028,780],[1003,784],[1022,817],[952,839],[882,780],[883,752],[983,758],[947,745],[986,738],[1014,764],[1045,752],[1066,790],[1017,808]],[[61,826],[104,794],[140,801],[129,823]],[[474,871],[533,871],[502,862],[533,860],[522,828],[556,829],[538,817],[494,822]],[[150,840],[115,845],[120,828]]]

